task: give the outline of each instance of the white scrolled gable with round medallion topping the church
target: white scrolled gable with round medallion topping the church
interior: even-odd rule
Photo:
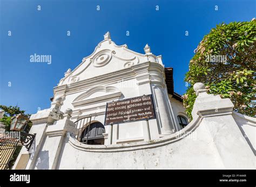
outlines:
[[[67,71],[58,85],[87,80],[148,61],[163,65],[160,56],[151,53],[149,45],[145,46],[144,51],[145,54],[140,54],[128,49],[127,45],[116,45],[111,40],[110,33],[107,32],[104,35],[104,40],[99,42],[95,51],[84,57],[73,71]]]

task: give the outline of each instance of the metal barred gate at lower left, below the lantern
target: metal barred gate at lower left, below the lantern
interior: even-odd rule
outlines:
[[[12,154],[18,145],[19,140],[16,138],[0,138],[0,169],[10,169],[9,162]]]

